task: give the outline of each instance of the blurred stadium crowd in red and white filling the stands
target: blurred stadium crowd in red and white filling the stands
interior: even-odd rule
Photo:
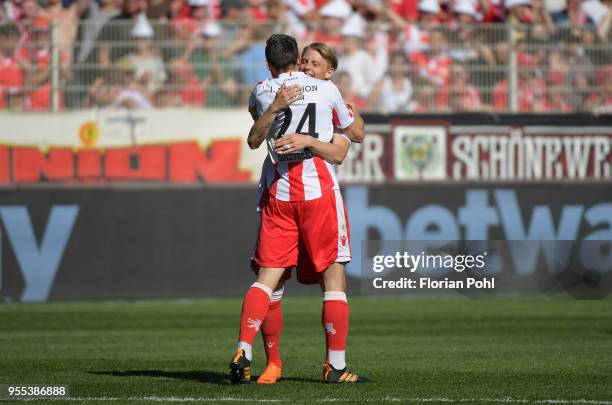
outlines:
[[[0,110],[244,106],[273,32],[362,109],[612,111],[612,0],[2,0]]]

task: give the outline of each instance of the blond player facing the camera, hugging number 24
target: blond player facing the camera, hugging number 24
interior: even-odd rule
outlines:
[[[334,51],[326,44],[315,42],[306,46],[302,52],[300,61],[300,71],[304,72],[308,76],[315,77],[321,80],[329,80],[334,75],[338,67],[338,59],[334,54]],[[296,86],[299,88],[299,86]],[[290,103],[290,96],[287,96],[285,92],[289,92],[291,89],[281,88],[277,92],[277,98],[284,100],[285,103],[281,108],[286,108]],[[346,102],[346,101],[345,101]],[[357,112],[357,109],[350,103],[347,103],[351,112],[354,114],[355,121],[358,125],[363,126],[363,119]],[[254,119],[257,119],[255,114]],[[334,144],[346,144],[350,146],[351,142],[361,143],[363,137],[359,137],[362,133],[349,133],[354,135],[353,139],[348,139],[346,135],[342,133],[334,134],[332,143]],[[293,135],[286,135],[284,141],[287,141]],[[277,148],[280,148],[282,153],[282,143],[277,144]],[[344,150],[344,149],[343,149]],[[348,149],[346,149],[348,151]],[[345,155],[342,156],[342,160]],[[338,162],[339,163],[339,162]],[[265,174],[266,170],[270,170],[269,160],[266,160],[264,170],[262,173]],[[265,177],[262,176],[262,177]],[[264,181],[260,184],[265,183]],[[263,193],[260,193],[263,194]],[[256,265],[253,265],[257,268]],[[313,270],[313,265],[308,257],[308,253],[304,251],[304,248],[298,252],[298,267],[296,268],[298,274],[298,281],[302,284],[316,284],[319,282],[318,274]],[[281,281],[277,286],[276,290],[272,293],[270,300],[270,306],[268,308],[268,314],[261,324],[261,334],[264,343],[264,349],[266,351],[267,366],[264,372],[257,379],[258,384],[275,384],[281,377],[282,374],[282,360],[280,358],[280,335],[283,328],[283,313],[281,308],[281,299],[284,291],[284,281]]]

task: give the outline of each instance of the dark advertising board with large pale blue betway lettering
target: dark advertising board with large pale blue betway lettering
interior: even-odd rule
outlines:
[[[240,295],[253,281],[254,196],[254,187],[214,186],[0,190],[0,297]],[[376,269],[378,256],[410,249],[411,257],[425,257],[448,241],[469,246],[447,253],[487,252],[483,274],[499,277],[492,293],[563,296],[578,284],[581,297],[611,291],[610,187],[354,185],[344,197],[355,292],[372,293],[364,288],[371,276],[364,269]],[[294,277],[289,284],[295,283]]]

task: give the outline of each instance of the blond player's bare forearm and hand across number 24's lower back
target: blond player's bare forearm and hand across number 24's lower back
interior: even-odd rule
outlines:
[[[351,141],[342,134],[334,134],[329,143],[321,142],[310,135],[288,134],[275,142],[274,149],[279,155],[284,155],[308,148],[321,159],[339,165],[344,161],[349,146]]]

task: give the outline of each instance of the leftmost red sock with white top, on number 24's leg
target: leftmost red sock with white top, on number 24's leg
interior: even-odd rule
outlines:
[[[253,344],[253,340],[268,313],[271,295],[272,290],[260,283],[253,283],[247,291],[242,303],[242,315],[240,317],[240,343],[246,343],[249,346]],[[247,358],[249,357],[247,356]]]

